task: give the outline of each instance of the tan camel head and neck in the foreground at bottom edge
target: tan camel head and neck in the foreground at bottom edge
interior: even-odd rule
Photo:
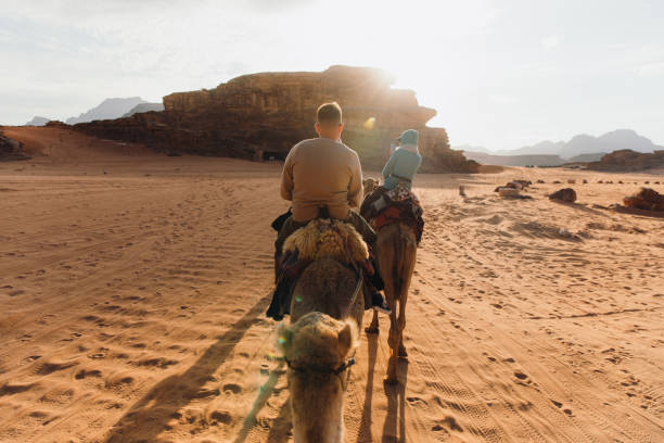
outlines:
[[[278,347],[289,364],[295,443],[344,440],[346,365],[358,345],[357,325],[312,312],[281,324]]]

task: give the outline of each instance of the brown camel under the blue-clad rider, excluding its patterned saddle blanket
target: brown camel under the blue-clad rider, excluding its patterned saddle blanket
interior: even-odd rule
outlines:
[[[365,197],[380,186],[374,178],[363,180]],[[375,257],[378,268],[385,282],[385,299],[392,309],[390,314],[390,336],[387,344],[391,349],[385,382],[397,384],[398,358],[408,358],[404,346],[404,329],[406,328],[406,302],[408,290],[414,270],[418,242],[412,229],[401,223],[384,226],[376,232]],[[398,304],[398,316],[397,316]],[[365,329],[367,333],[379,332],[378,312],[373,312],[371,324]]]

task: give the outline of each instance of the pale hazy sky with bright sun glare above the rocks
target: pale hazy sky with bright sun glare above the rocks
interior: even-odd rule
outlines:
[[[378,66],[452,144],[664,144],[664,1],[0,0],[0,124],[241,74]]]

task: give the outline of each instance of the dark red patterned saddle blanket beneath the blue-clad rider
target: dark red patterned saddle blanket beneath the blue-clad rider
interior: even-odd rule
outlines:
[[[423,213],[417,195],[400,186],[392,190],[378,187],[365,198],[360,207],[360,215],[374,230],[378,231],[394,223],[403,223],[412,229],[418,244],[424,231]]]

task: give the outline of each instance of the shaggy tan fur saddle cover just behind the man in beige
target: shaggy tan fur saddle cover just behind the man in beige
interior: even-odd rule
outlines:
[[[369,258],[369,248],[349,224],[336,219],[312,219],[285,241],[284,251],[301,260],[330,257],[344,264],[360,264]]]

